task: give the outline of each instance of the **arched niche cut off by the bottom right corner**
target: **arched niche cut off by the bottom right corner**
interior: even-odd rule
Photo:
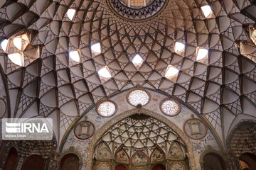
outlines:
[[[253,170],[256,167],[256,155],[252,153],[244,153],[239,157],[242,169]]]

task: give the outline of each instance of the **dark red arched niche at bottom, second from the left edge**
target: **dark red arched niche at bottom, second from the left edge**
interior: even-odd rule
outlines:
[[[44,170],[46,160],[44,160],[40,155],[32,154],[28,157],[22,165],[22,170]]]

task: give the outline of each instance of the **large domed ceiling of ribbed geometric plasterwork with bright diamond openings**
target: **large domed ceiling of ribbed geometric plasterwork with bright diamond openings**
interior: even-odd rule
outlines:
[[[180,98],[223,132],[225,120],[255,116],[253,1],[160,2],[127,17],[112,0],[1,1],[9,116],[53,118],[61,139],[92,104],[134,86]]]

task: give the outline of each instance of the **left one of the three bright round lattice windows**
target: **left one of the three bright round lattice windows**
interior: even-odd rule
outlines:
[[[114,103],[114,101],[101,101],[97,104],[96,111],[103,117],[110,117],[117,112],[117,105]]]

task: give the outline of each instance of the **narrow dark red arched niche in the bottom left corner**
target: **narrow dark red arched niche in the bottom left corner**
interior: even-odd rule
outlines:
[[[11,147],[9,150],[8,157],[4,164],[3,170],[15,170],[16,165],[18,164],[18,152],[14,147]]]

